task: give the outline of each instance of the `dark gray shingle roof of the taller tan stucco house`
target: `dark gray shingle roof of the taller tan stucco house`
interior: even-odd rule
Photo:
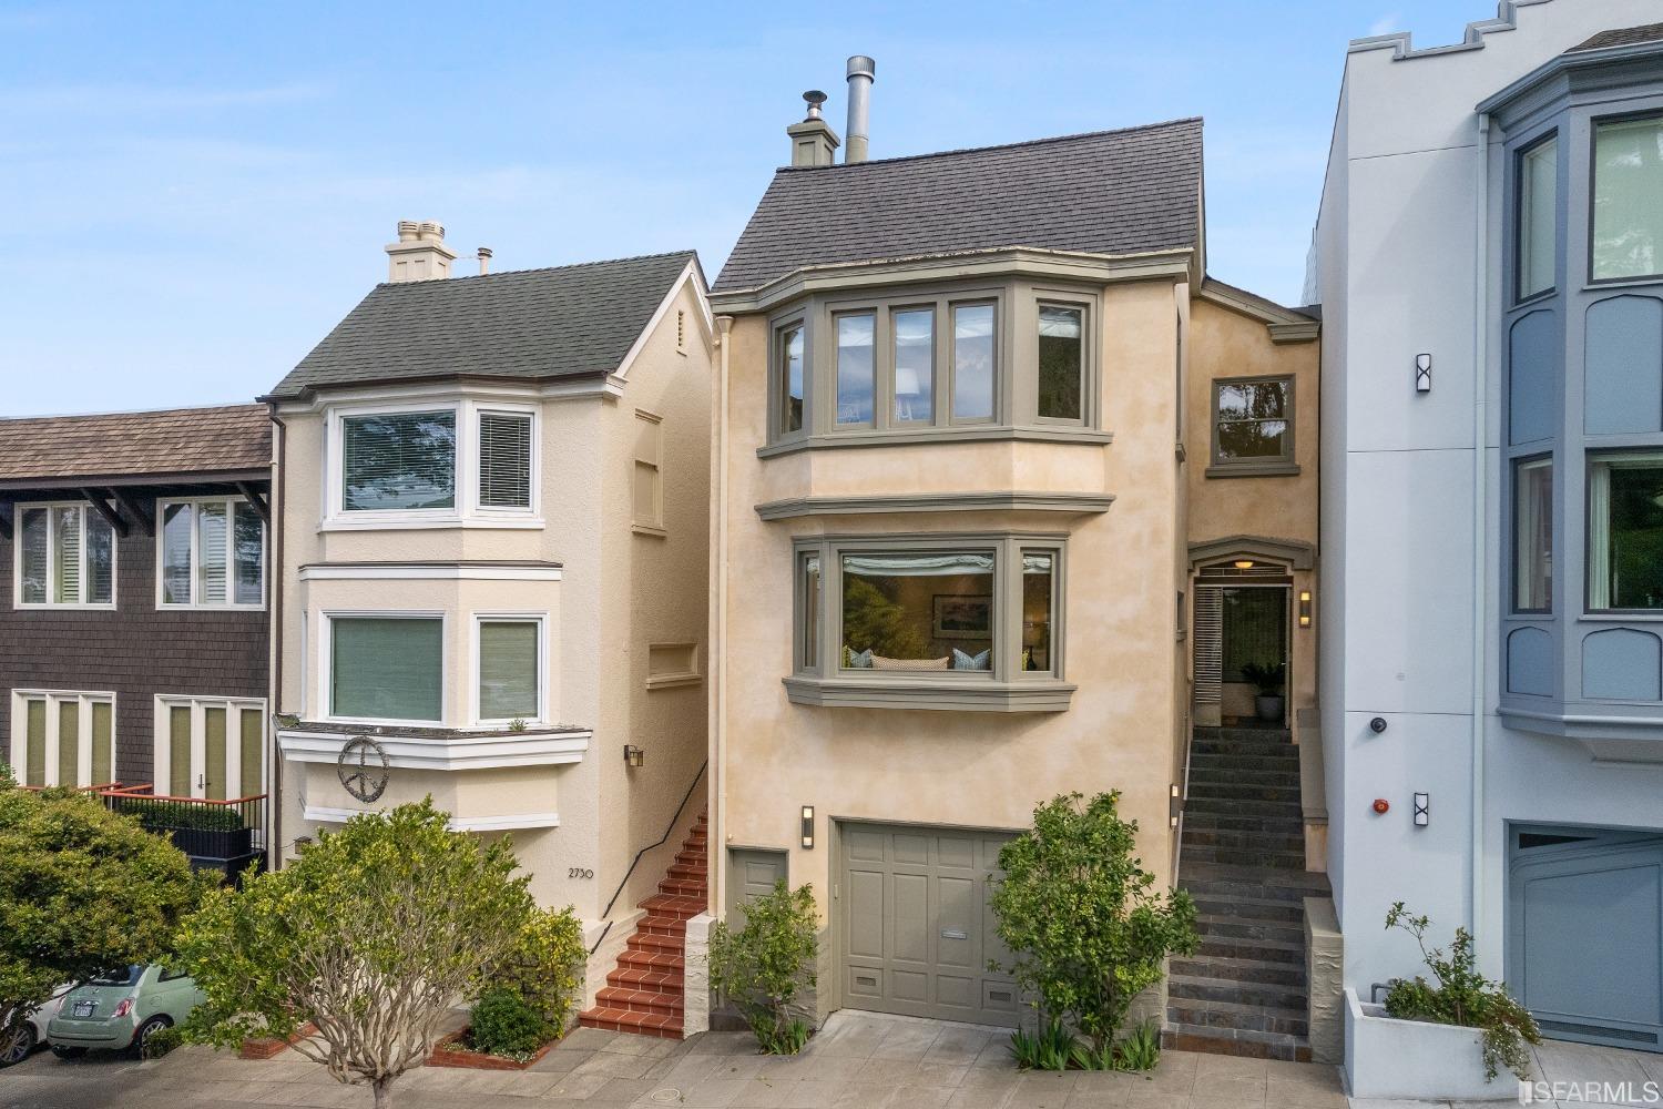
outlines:
[[[1038,246],[1196,246],[1201,120],[773,175],[713,291],[803,266]]]

